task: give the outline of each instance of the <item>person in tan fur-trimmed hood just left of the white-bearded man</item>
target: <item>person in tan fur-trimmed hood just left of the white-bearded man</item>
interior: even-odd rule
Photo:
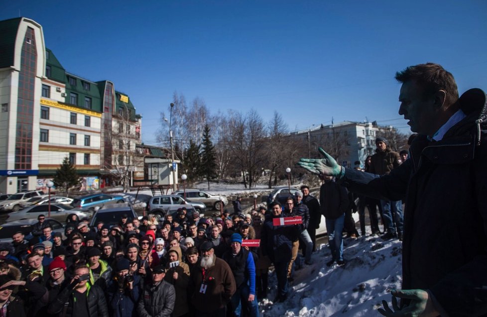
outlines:
[[[189,312],[188,308],[188,283],[189,267],[181,260],[181,248],[172,247],[167,251],[166,275],[164,281],[174,286],[176,301],[173,317],[179,317]]]

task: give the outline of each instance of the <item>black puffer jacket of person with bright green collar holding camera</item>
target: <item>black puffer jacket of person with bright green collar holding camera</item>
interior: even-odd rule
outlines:
[[[56,316],[73,316],[73,289],[68,284],[56,298],[54,302],[49,305],[48,313]],[[89,317],[108,317],[107,301],[102,289],[97,285],[92,285],[87,290],[87,305]],[[66,315],[63,315],[65,303],[68,303]]]

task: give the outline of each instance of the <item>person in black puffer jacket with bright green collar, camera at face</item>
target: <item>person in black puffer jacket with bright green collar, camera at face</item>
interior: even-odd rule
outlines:
[[[89,283],[90,269],[86,264],[80,265],[74,274],[71,283],[49,305],[48,313],[59,317],[108,317],[103,290]]]

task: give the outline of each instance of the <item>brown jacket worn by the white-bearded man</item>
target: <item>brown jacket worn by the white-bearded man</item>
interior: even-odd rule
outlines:
[[[214,263],[208,270],[199,266],[191,272],[190,300],[198,312],[211,313],[223,308],[236,291],[234,275],[227,262],[214,256]],[[200,293],[203,282],[207,285],[205,294]]]

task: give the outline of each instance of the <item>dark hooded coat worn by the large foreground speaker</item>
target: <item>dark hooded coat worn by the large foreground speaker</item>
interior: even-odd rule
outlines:
[[[463,94],[467,117],[441,141],[416,137],[389,175],[346,169],[342,180],[370,196],[406,195],[402,288],[429,289],[449,316],[487,312],[486,100],[480,89]]]

